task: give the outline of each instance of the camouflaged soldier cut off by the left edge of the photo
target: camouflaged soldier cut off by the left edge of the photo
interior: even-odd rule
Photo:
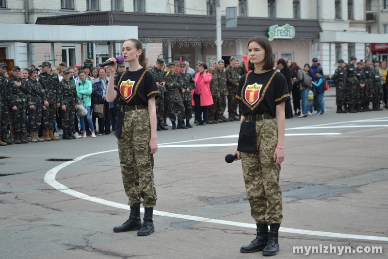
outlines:
[[[0,63],[0,146],[12,145],[12,140],[7,139],[9,110],[7,102],[7,64]]]

